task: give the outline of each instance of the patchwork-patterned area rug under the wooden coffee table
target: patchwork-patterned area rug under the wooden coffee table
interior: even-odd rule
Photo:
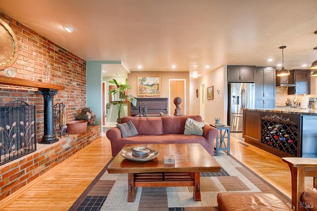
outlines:
[[[135,202],[127,202],[127,174],[108,174],[106,167],[78,198],[70,211],[217,211],[218,192],[273,193],[290,206],[291,200],[232,156],[214,158],[220,172],[201,173],[201,202],[193,187],[135,188]]]

